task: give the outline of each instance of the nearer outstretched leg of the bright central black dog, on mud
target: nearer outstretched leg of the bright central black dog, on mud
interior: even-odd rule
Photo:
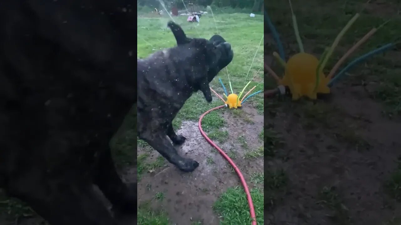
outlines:
[[[176,149],[171,144],[164,132],[147,132],[140,134],[140,138],[146,141],[152,148],[158,151],[170,163],[184,172],[192,172],[199,166],[199,163],[193,159],[183,158],[178,155]]]

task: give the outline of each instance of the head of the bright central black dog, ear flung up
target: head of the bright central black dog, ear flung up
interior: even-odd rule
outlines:
[[[231,49],[231,45],[223,37],[215,35],[210,40],[188,38],[178,24],[170,21],[167,26],[173,32],[177,46],[196,49],[196,54],[194,55],[203,54],[205,56],[208,82],[211,82],[217,73],[233,60],[234,52]]]

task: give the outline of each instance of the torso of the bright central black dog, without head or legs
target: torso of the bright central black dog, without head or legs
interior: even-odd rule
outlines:
[[[139,118],[148,118],[157,124],[174,119],[195,90],[197,70],[202,70],[196,69],[194,62],[188,61],[193,58],[188,54],[192,54],[188,48],[175,46],[138,59]]]

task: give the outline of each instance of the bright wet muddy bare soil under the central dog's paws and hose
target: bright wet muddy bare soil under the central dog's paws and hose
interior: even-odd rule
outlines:
[[[243,107],[241,118],[233,115],[233,110],[222,110],[227,125],[229,137],[223,143],[217,143],[226,153],[231,152],[232,158],[245,179],[249,173],[263,171],[263,158],[256,160],[244,159],[248,149],[263,145],[258,135],[263,128],[263,115],[250,105]],[[247,119],[244,119],[247,118]],[[184,121],[178,134],[186,137],[186,142],[177,147],[180,155],[195,159],[199,167],[192,173],[182,173],[173,165],[167,163],[156,171],[147,171],[138,182],[138,205],[151,203],[155,210],[164,209],[172,224],[189,225],[192,222],[218,225],[220,219],[213,211],[213,204],[229,187],[241,185],[239,178],[231,169],[229,163],[207,143],[198,130],[198,123]],[[237,137],[243,135],[247,148],[241,146]],[[138,149],[138,155],[145,150]],[[160,154],[152,149],[151,158]],[[250,182],[248,183],[251,186]],[[163,199],[155,199],[157,193],[163,193]],[[244,193],[245,195],[245,193]]]

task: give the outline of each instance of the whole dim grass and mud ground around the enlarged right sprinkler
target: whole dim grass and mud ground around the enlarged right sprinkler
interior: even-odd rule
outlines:
[[[348,20],[361,12],[328,61],[325,74],[369,30],[387,20],[341,68],[374,48],[399,41],[401,2],[366,2],[292,1],[305,51],[318,58]],[[290,5],[269,1],[267,12],[288,60],[299,52]],[[265,32],[265,60],[282,74],[272,57],[273,51],[278,52],[273,36],[268,29]],[[271,201],[265,201],[267,224],[400,224],[400,72],[397,44],[349,70],[325,99],[265,99],[265,182],[269,180],[270,187],[282,185],[270,192]],[[273,79],[266,79],[266,88],[275,86]],[[273,170],[281,171],[279,176]]]

